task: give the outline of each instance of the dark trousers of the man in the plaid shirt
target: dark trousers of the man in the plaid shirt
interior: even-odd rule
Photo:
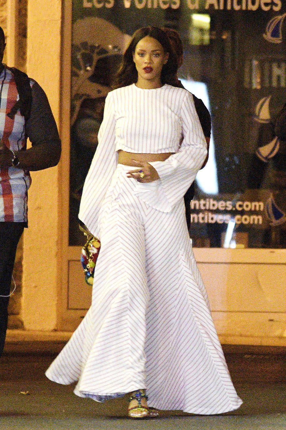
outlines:
[[[24,230],[23,222],[0,222],[0,295],[9,295],[18,242]],[[9,297],[0,297],[0,356],[2,355]]]

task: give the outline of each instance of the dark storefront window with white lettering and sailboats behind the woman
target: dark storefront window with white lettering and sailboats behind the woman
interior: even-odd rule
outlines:
[[[267,3],[267,4],[266,4]],[[132,33],[175,28],[179,78],[212,119],[209,160],[195,182],[190,237],[212,248],[286,247],[286,6],[279,0],[73,1],[69,244],[105,97]]]

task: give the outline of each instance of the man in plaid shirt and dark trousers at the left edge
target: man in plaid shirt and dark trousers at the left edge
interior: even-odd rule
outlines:
[[[27,227],[29,171],[56,166],[61,152],[45,92],[26,74],[2,64],[5,46],[0,27],[0,356],[6,338],[15,253]],[[30,149],[27,138],[32,143]]]

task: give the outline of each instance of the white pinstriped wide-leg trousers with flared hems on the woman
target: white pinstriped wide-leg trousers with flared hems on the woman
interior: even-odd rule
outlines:
[[[146,388],[160,409],[236,409],[241,400],[211,319],[184,201],[172,212],[153,209],[135,195],[129,169],[117,167],[100,213],[92,305],[46,375],[78,381],[77,395],[99,401]]]

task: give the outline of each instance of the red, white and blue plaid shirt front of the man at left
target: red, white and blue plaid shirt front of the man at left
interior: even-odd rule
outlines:
[[[33,81],[31,81],[31,85]],[[7,117],[19,99],[12,72],[4,67],[0,74],[0,129],[2,141],[9,149],[26,149],[25,120],[18,111],[14,119]],[[0,221],[27,222],[27,191],[31,184],[29,172],[15,167],[0,169]]]

